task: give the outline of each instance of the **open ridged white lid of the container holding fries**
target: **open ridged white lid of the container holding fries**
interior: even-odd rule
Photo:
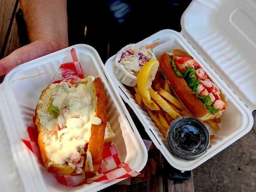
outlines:
[[[181,34],[252,111],[256,109],[256,1],[193,0]]]

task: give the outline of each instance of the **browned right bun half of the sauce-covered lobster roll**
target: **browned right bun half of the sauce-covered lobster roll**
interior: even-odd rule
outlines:
[[[95,117],[101,119],[100,125],[91,126],[91,138],[89,140],[89,146],[87,150],[87,158],[85,163],[85,171],[93,172],[97,171],[101,166],[102,162],[102,150],[104,144],[105,128],[107,123],[107,113],[106,113],[106,94],[103,88],[103,84],[100,78],[96,78],[93,82],[94,93],[97,97],[97,105]],[[91,159],[89,153],[91,154]],[[92,160],[92,162],[90,162]],[[90,163],[93,164],[93,170],[90,169]]]

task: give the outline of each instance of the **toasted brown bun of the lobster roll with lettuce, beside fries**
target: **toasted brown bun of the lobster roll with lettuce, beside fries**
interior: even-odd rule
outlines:
[[[174,68],[171,65],[171,59],[169,54],[163,53],[158,57],[160,68],[162,69],[166,79],[172,85],[177,97],[181,100],[183,105],[201,121],[207,121],[214,118],[219,118],[222,116],[222,110],[218,113],[210,114],[208,109],[204,107],[202,101],[192,93],[192,90],[188,87],[187,82],[184,78],[178,77]],[[223,95],[220,94],[223,100]],[[225,102],[226,103],[226,102]]]

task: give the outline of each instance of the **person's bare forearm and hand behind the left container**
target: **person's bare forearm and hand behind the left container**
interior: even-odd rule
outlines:
[[[68,46],[67,1],[20,0],[31,43],[0,60],[0,76]]]

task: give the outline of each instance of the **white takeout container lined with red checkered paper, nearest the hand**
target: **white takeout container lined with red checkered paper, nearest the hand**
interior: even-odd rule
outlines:
[[[27,137],[27,126],[32,123],[41,91],[51,83],[71,48],[76,50],[84,75],[100,77],[104,84],[107,96],[107,120],[116,134],[114,144],[121,162],[128,163],[138,172],[146,165],[146,146],[99,54],[91,46],[80,44],[19,65],[8,73],[4,82],[0,84],[0,130],[1,138],[5,138],[0,141],[0,178],[3,181],[0,191],[99,191],[123,180],[106,180],[80,187],[65,187],[39,164],[37,157],[21,141]],[[10,145],[6,141],[7,137]]]

